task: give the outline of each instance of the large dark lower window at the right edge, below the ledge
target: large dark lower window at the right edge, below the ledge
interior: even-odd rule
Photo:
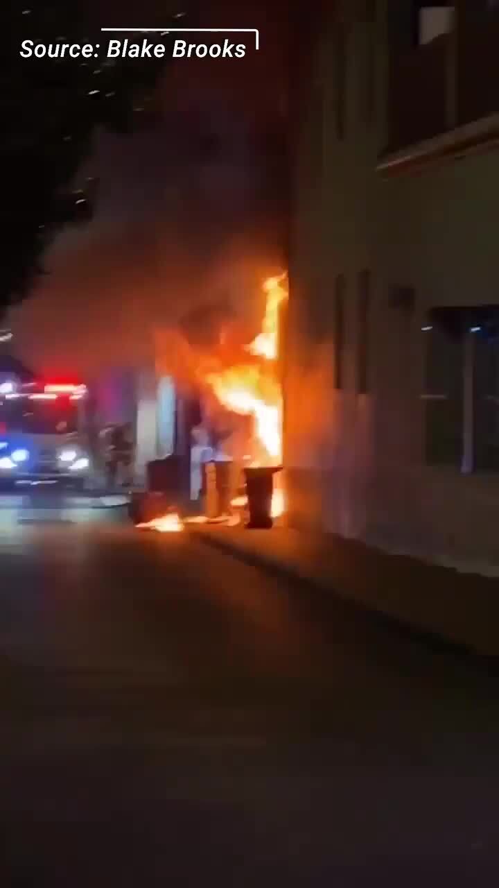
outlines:
[[[435,309],[426,337],[426,460],[499,472],[499,308]]]

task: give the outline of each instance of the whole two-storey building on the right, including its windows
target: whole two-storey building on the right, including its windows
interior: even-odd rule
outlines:
[[[301,44],[289,519],[499,560],[499,4],[322,4]]]

